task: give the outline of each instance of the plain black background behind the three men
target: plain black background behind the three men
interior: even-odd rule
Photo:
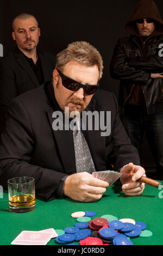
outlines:
[[[114,1],[9,1],[0,2],[0,44],[6,54],[14,48],[11,37],[11,23],[20,13],[33,14],[39,22],[42,50],[57,54],[67,44],[85,40],[95,46],[104,60],[104,72],[100,81],[102,89],[114,92],[118,98],[119,81],[112,80],[109,65],[114,45],[121,36],[128,36],[124,29],[138,0]],[[163,1],[155,0],[163,17]],[[155,163],[146,137],[141,148],[141,162],[144,167],[154,169]]]

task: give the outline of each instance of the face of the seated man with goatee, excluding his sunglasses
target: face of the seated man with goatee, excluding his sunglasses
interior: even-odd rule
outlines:
[[[73,80],[82,84],[97,84],[99,78],[99,71],[97,65],[84,66],[77,62],[68,62],[62,73]],[[78,111],[81,113],[89,105],[92,95],[85,95],[83,88],[80,88],[77,92],[68,90],[62,85],[62,80],[58,74],[57,69],[53,71],[53,87],[54,95],[60,108],[64,111],[65,107],[69,107],[69,113],[72,111]]]

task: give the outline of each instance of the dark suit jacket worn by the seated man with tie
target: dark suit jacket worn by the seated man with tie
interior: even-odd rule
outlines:
[[[51,83],[11,101],[5,132],[0,145],[0,184],[15,176],[32,176],[36,195],[45,200],[53,195],[60,180],[76,173],[72,130],[52,129],[52,115],[60,110]],[[118,117],[114,94],[98,90],[85,111],[111,111],[111,134],[86,130],[85,137],[96,170],[120,169],[124,164],[140,164],[137,150],[131,145]]]

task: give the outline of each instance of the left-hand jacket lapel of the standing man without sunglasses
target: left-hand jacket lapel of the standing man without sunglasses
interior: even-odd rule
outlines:
[[[17,51],[15,51],[15,57],[16,57],[16,61],[18,62],[18,64],[22,67],[22,69],[24,69],[24,71],[26,71],[30,80],[33,82],[34,88],[39,87],[39,81],[37,80],[37,77],[36,77],[33,69],[31,68],[30,64],[28,63],[28,61],[27,61],[26,57],[23,55],[23,53],[21,51],[17,50]]]

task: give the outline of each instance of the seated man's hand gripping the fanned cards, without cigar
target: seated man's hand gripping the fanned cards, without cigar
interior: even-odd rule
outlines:
[[[64,184],[64,195],[73,200],[91,202],[102,198],[109,183],[82,172],[68,176]]]

